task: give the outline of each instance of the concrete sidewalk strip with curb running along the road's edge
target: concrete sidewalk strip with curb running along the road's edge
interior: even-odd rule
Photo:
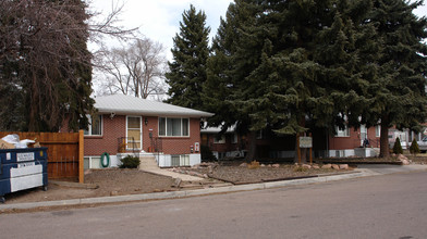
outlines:
[[[193,197],[193,196],[261,190],[261,189],[295,186],[295,185],[327,183],[327,181],[334,181],[334,180],[342,180],[342,179],[350,179],[350,178],[377,176],[377,175],[386,175],[386,174],[394,174],[394,173],[422,172],[422,171],[427,171],[427,165],[415,165],[415,164],[404,165],[404,166],[361,165],[355,172],[350,172],[347,174],[340,174],[340,175],[329,175],[329,176],[320,175],[319,177],[310,177],[310,178],[294,179],[294,180],[236,185],[236,186],[225,186],[225,187],[218,187],[218,188],[171,191],[171,192],[155,192],[155,193],[144,193],[144,194],[85,198],[85,199],[72,199],[72,200],[61,200],[61,201],[0,204],[0,210],[35,209],[35,207],[44,207],[44,206],[83,205],[83,204],[113,203],[113,202],[132,202],[132,201],[158,200],[158,199],[176,199],[176,198]]]

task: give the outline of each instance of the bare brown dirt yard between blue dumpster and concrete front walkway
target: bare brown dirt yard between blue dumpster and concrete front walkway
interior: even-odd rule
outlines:
[[[96,189],[86,189],[49,184],[47,191],[44,191],[41,188],[34,188],[5,194],[5,203],[41,202],[176,190],[172,187],[172,177],[155,175],[137,169],[93,169],[89,174],[85,175],[85,184],[98,187]]]

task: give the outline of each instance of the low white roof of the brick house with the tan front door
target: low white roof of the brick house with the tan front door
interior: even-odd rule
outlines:
[[[146,116],[210,117],[213,114],[131,96],[114,95],[95,98],[99,113],[138,114]]]

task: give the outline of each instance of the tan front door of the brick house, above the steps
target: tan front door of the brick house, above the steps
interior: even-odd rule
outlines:
[[[143,124],[141,116],[126,117],[126,149],[141,150],[143,148]]]

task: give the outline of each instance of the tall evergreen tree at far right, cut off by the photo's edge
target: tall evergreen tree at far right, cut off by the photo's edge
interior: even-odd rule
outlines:
[[[375,0],[369,22],[377,26],[380,58],[376,80],[370,85],[371,103],[365,115],[380,122],[380,156],[389,156],[388,129],[420,130],[426,120],[427,20],[413,10],[422,1]]]

